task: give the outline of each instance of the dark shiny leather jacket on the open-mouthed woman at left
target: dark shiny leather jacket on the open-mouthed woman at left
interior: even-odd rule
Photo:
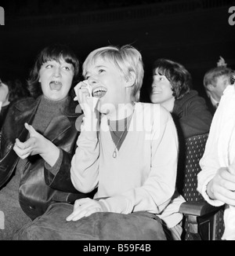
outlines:
[[[13,151],[13,145],[18,137],[20,141],[27,139],[28,131],[24,123],[31,124],[41,97],[37,100],[25,98],[17,101],[9,108],[4,126],[2,127],[2,139],[0,148],[0,188],[5,185],[14,173],[19,161],[18,155]],[[67,107],[61,109],[63,115],[52,119],[45,130],[44,136],[60,148],[60,170],[63,170],[63,177],[57,177],[56,182],[63,180],[60,190],[45,184],[45,161],[40,155],[28,157],[28,161],[21,171],[19,200],[24,212],[34,219],[42,215],[54,202],[74,203],[75,199],[85,197],[85,194],[78,192],[71,183],[70,167],[71,158],[74,155],[79,132],[75,128],[76,119],[81,114],[75,113],[76,103],[69,97]],[[60,173],[61,175],[61,173]],[[63,188],[63,191],[61,190]]]

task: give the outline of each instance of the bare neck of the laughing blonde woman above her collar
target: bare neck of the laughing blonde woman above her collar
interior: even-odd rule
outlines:
[[[111,121],[126,119],[128,116],[132,115],[134,109],[134,102],[118,104],[113,112],[107,113],[107,119],[110,119]]]

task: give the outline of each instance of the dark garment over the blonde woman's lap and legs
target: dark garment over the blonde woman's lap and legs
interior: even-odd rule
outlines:
[[[155,214],[98,212],[66,221],[73,209],[67,203],[52,204],[45,214],[20,229],[13,240],[167,240],[161,219]]]

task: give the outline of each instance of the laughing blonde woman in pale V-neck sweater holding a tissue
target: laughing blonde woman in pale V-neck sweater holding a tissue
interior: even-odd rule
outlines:
[[[15,240],[166,240],[182,220],[174,199],[178,137],[160,104],[139,102],[143,61],[133,46],[95,49],[76,87],[84,112],[71,180],[93,199],[57,203]],[[178,229],[175,229],[177,232]],[[166,233],[168,236],[166,236]]]

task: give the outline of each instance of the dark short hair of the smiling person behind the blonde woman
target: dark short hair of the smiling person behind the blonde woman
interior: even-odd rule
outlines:
[[[181,99],[192,89],[192,77],[182,64],[161,58],[154,61],[153,71],[156,69],[159,75],[164,75],[171,83],[175,100]]]

